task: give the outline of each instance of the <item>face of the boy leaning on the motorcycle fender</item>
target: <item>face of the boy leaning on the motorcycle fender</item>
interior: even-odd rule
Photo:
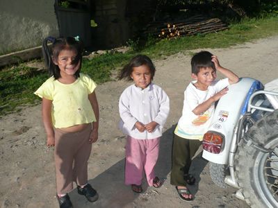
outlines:
[[[215,80],[216,71],[212,67],[205,67],[199,69],[197,75],[192,73],[191,76],[193,79],[197,80],[197,83],[195,83],[195,87],[197,87],[197,89],[206,90]]]

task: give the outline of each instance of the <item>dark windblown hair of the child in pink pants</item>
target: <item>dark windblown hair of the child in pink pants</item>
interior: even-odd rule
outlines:
[[[142,65],[147,65],[149,67],[149,69],[151,70],[151,78],[153,80],[156,68],[154,67],[152,60],[149,57],[147,57],[147,55],[136,55],[136,57],[132,58],[129,64],[126,64],[124,68],[120,71],[117,78],[119,80],[132,80],[131,73],[133,71],[133,67],[140,67]]]

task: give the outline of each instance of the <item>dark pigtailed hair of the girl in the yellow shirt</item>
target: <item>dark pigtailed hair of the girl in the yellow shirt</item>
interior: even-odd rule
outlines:
[[[48,45],[48,42],[52,43],[52,46]],[[83,43],[80,40],[76,40],[74,37],[47,37],[42,42],[42,54],[44,55],[44,62],[49,70],[49,75],[54,76],[54,79],[60,78],[60,69],[54,64],[54,60],[58,61],[58,55],[60,51],[64,49],[76,51],[76,59],[72,64],[78,64],[80,61],[79,70],[74,73],[75,78],[79,78],[82,63]]]

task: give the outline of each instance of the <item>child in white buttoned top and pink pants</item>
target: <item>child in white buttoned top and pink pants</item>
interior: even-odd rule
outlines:
[[[152,83],[156,71],[152,60],[137,55],[127,64],[118,78],[133,80],[120,96],[120,128],[126,138],[125,184],[135,193],[142,192],[145,171],[150,187],[159,188],[161,180],[154,174],[158,159],[159,140],[169,113],[167,94]]]

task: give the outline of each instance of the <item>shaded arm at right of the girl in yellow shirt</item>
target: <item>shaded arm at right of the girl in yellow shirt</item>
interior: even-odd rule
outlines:
[[[92,105],[92,110],[95,113],[96,121],[92,122],[92,133],[90,135],[90,143],[94,143],[98,139],[99,135],[99,103],[97,103],[97,96],[95,94],[95,91],[89,94],[89,100]]]

